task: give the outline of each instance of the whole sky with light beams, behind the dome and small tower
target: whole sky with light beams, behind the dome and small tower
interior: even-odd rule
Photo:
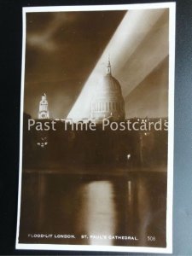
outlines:
[[[90,118],[110,55],[126,118],[167,117],[169,31],[168,9],[27,12],[24,111],[46,93],[50,118]]]

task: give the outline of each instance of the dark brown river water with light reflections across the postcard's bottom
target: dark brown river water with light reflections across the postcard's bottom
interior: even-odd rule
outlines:
[[[27,172],[20,214],[20,242],[166,247],[166,172]]]

